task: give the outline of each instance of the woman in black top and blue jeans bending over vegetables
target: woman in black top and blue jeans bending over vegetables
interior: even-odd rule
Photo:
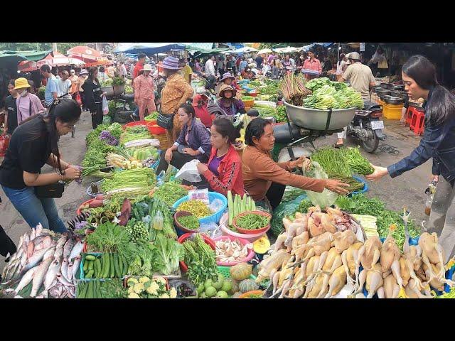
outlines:
[[[73,99],[56,99],[48,114],[37,114],[16,128],[4,161],[0,166],[0,185],[16,210],[30,227],[41,223],[44,228],[65,232],[52,198],[37,197],[36,186],[59,180],[75,180],[81,172],[60,159],[58,139],[73,130],[80,117],[80,107]],[[41,174],[47,163],[55,173]]]

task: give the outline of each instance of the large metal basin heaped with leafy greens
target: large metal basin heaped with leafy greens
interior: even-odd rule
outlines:
[[[348,126],[355,115],[355,107],[348,109],[333,109],[328,121],[329,110],[296,107],[284,102],[289,119],[297,126],[311,130],[336,130]],[[328,123],[328,126],[327,126]]]

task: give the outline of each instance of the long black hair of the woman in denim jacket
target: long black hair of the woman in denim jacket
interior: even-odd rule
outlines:
[[[436,75],[436,67],[423,55],[413,55],[405,65],[402,72],[411,77],[419,87],[424,90],[432,90],[426,111],[427,122],[441,124],[455,114],[455,97],[439,85]]]

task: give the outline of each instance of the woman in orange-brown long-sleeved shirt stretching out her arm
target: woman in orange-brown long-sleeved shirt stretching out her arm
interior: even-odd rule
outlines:
[[[272,160],[274,147],[272,123],[258,117],[253,119],[245,132],[247,147],[242,155],[242,175],[245,191],[257,202],[257,205],[274,210],[282,201],[287,185],[321,193],[324,188],[338,194],[347,194],[346,183],[331,179],[306,178],[291,173],[296,167],[304,166],[309,160],[299,158],[296,161],[276,163]]]

